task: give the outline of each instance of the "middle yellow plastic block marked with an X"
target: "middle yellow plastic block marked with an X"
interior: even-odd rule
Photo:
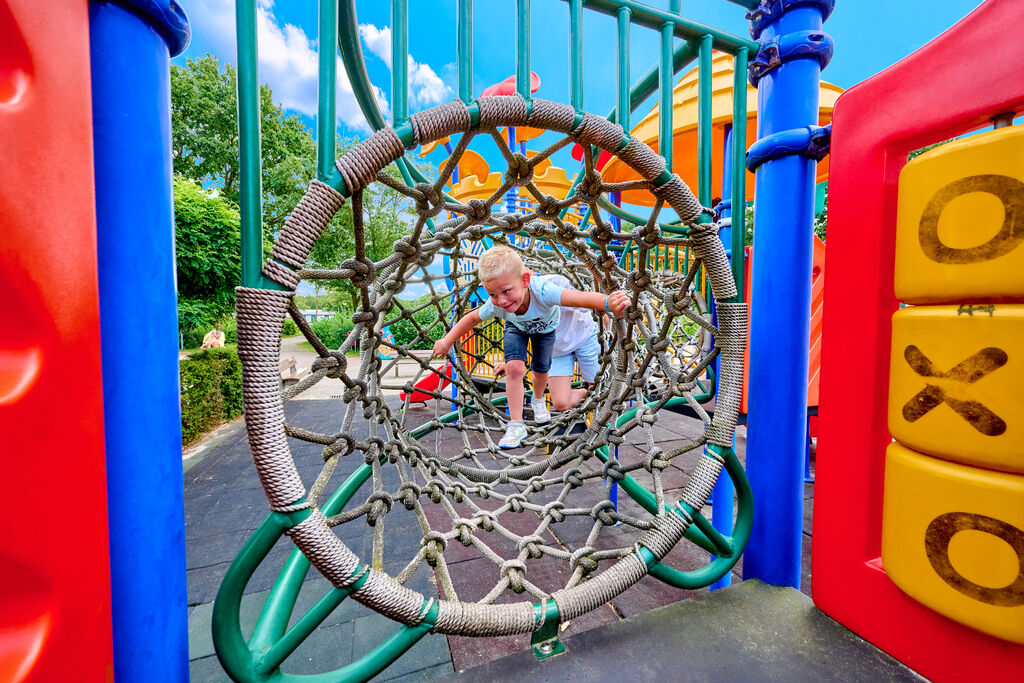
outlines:
[[[889,433],[929,455],[1024,472],[1024,305],[893,314]]]

